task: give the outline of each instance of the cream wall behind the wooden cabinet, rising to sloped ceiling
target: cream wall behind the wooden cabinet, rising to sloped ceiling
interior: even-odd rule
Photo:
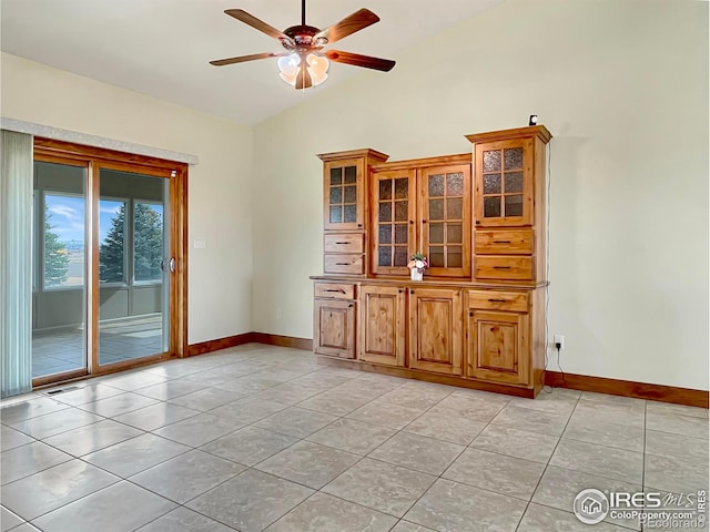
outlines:
[[[708,389],[708,3],[509,0],[395,59],[255,127],[255,330],[312,337],[316,153],[463,153],[536,113],[562,368]]]

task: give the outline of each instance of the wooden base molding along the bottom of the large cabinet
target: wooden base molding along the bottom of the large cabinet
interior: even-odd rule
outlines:
[[[471,388],[481,391],[493,391],[494,393],[507,393],[508,396],[525,397],[528,399],[532,399],[534,397],[534,390],[531,388],[495,385],[493,382],[483,382],[478,380],[463,379],[459,377],[449,377],[447,375],[436,375],[427,371],[417,371],[416,369],[394,368],[388,366],[381,366],[377,364],[368,364],[363,362],[362,360],[346,360],[332,357],[317,357],[317,360],[318,364],[323,366],[355,369],[359,371],[368,371],[371,374],[402,377],[405,379],[424,380],[426,382],[436,382],[437,385],[448,385],[457,386],[459,388]]]

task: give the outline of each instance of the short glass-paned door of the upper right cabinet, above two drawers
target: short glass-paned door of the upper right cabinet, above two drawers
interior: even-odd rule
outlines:
[[[476,225],[520,226],[532,223],[531,141],[476,145]]]

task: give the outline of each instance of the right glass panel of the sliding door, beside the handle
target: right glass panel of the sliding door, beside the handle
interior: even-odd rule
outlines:
[[[169,180],[101,168],[99,366],[170,350]]]

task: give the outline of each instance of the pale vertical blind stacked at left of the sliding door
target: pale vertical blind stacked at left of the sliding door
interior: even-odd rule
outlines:
[[[32,135],[0,143],[0,395],[32,389]]]

